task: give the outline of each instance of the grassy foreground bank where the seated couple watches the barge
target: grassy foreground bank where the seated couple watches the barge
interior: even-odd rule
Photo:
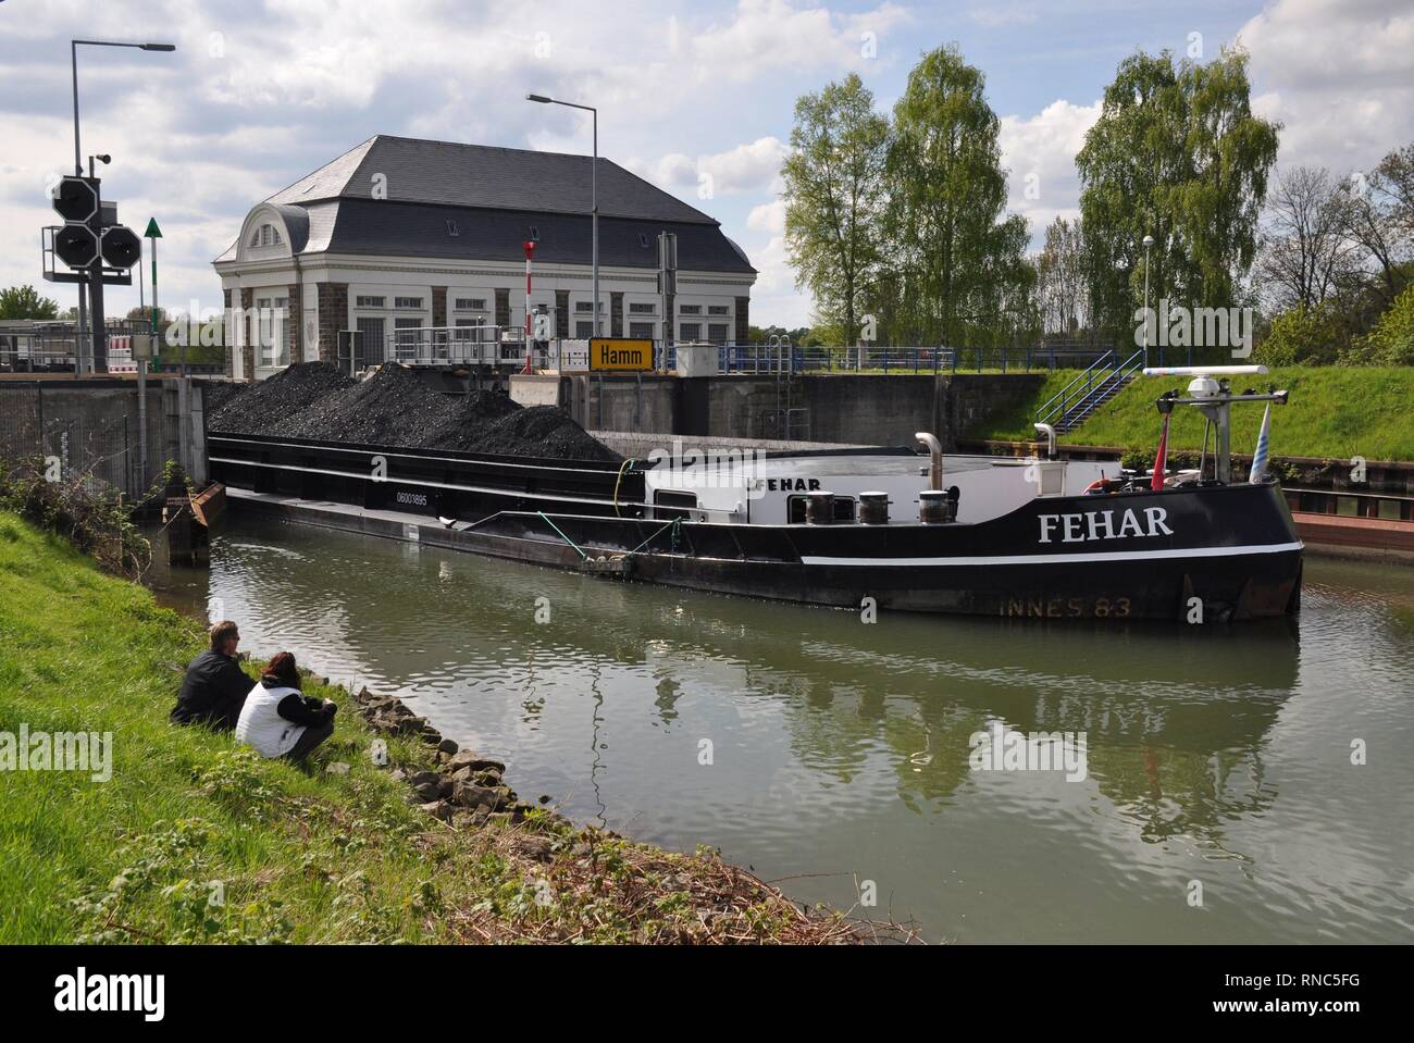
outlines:
[[[141,587],[0,513],[0,732],[112,733],[107,782],[0,770],[0,943],[860,937],[711,854],[547,811],[444,824],[392,774],[436,767],[434,750],[389,736],[375,765],[342,688],[307,687],[341,704],[308,767],[171,726],[174,667],[202,646]]]

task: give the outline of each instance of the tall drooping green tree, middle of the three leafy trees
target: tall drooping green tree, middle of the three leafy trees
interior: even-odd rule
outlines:
[[[1004,218],[1007,177],[986,79],[956,45],[923,55],[894,107],[888,233],[902,342],[995,342],[1035,273],[1027,223]]]

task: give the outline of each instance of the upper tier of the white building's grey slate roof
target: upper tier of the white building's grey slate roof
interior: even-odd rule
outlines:
[[[588,213],[591,163],[588,155],[378,134],[267,202],[372,199],[375,177],[382,174],[389,202]],[[715,223],[604,157],[597,178],[601,218]]]

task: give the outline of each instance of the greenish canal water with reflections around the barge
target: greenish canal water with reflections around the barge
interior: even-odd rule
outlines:
[[[1414,937],[1414,570],[1309,558],[1299,625],[865,623],[233,519],[161,596],[523,799],[932,941]]]

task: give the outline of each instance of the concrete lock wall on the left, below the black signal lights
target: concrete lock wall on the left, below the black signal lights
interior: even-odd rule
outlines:
[[[140,461],[137,382],[130,379],[0,382],[0,455],[58,458],[65,479],[92,476],[137,496],[177,461],[206,481],[201,382],[147,382],[147,466]],[[146,481],[144,481],[146,479]]]

